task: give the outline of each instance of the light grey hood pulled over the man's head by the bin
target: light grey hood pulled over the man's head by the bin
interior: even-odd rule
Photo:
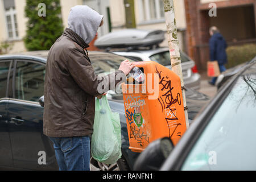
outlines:
[[[68,27],[89,44],[96,36],[102,18],[103,15],[88,6],[75,6],[68,16]]]

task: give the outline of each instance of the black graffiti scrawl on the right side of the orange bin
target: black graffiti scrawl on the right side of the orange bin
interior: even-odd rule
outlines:
[[[181,105],[181,96],[178,92],[176,96],[172,93],[174,87],[171,85],[171,80],[169,77],[163,76],[162,71],[158,71],[157,67],[156,73],[159,76],[159,86],[160,89],[164,92],[162,96],[158,98],[158,101],[162,107],[162,112],[166,114],[166,122],[169,128],[169,136],[170,138],[175,134],[177,127],[181,125],[181,123],[177,122],[179,118],[177,118],[176,108],[174,105],[177,103]],[[172,131],[171,131],[172,130]],[[181,133],[176,133],[178,137],[181,137]]]

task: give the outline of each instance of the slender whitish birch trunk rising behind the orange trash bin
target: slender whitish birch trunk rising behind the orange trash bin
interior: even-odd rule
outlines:
[[[186,119],[186,125],[188,128],[189,126],[188,111],[187,111],[187,102],[185,98],[184,81],[183,81],[183,75],[182,75],[182,69],[181,69],[179,40],[177,38],[177,27],[176,27],[175,13],[174,13],[174,1],[173,0],[163,0],[163,1],[164,1],[164,12],[166,16],[166,27],[167,27],[167,34],[168,34],[168,44],[170,49],[172,71],[174,71],[180,77],[184,111],[185,111],[185,119]]]

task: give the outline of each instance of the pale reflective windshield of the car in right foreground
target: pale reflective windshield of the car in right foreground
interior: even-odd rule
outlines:
[[[238,78],[182,170],[255,170],[256,75]]]

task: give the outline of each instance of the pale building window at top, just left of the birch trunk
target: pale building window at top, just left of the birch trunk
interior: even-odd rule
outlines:
[[[164,20],[163,0],[139,0],[140,23]]]

